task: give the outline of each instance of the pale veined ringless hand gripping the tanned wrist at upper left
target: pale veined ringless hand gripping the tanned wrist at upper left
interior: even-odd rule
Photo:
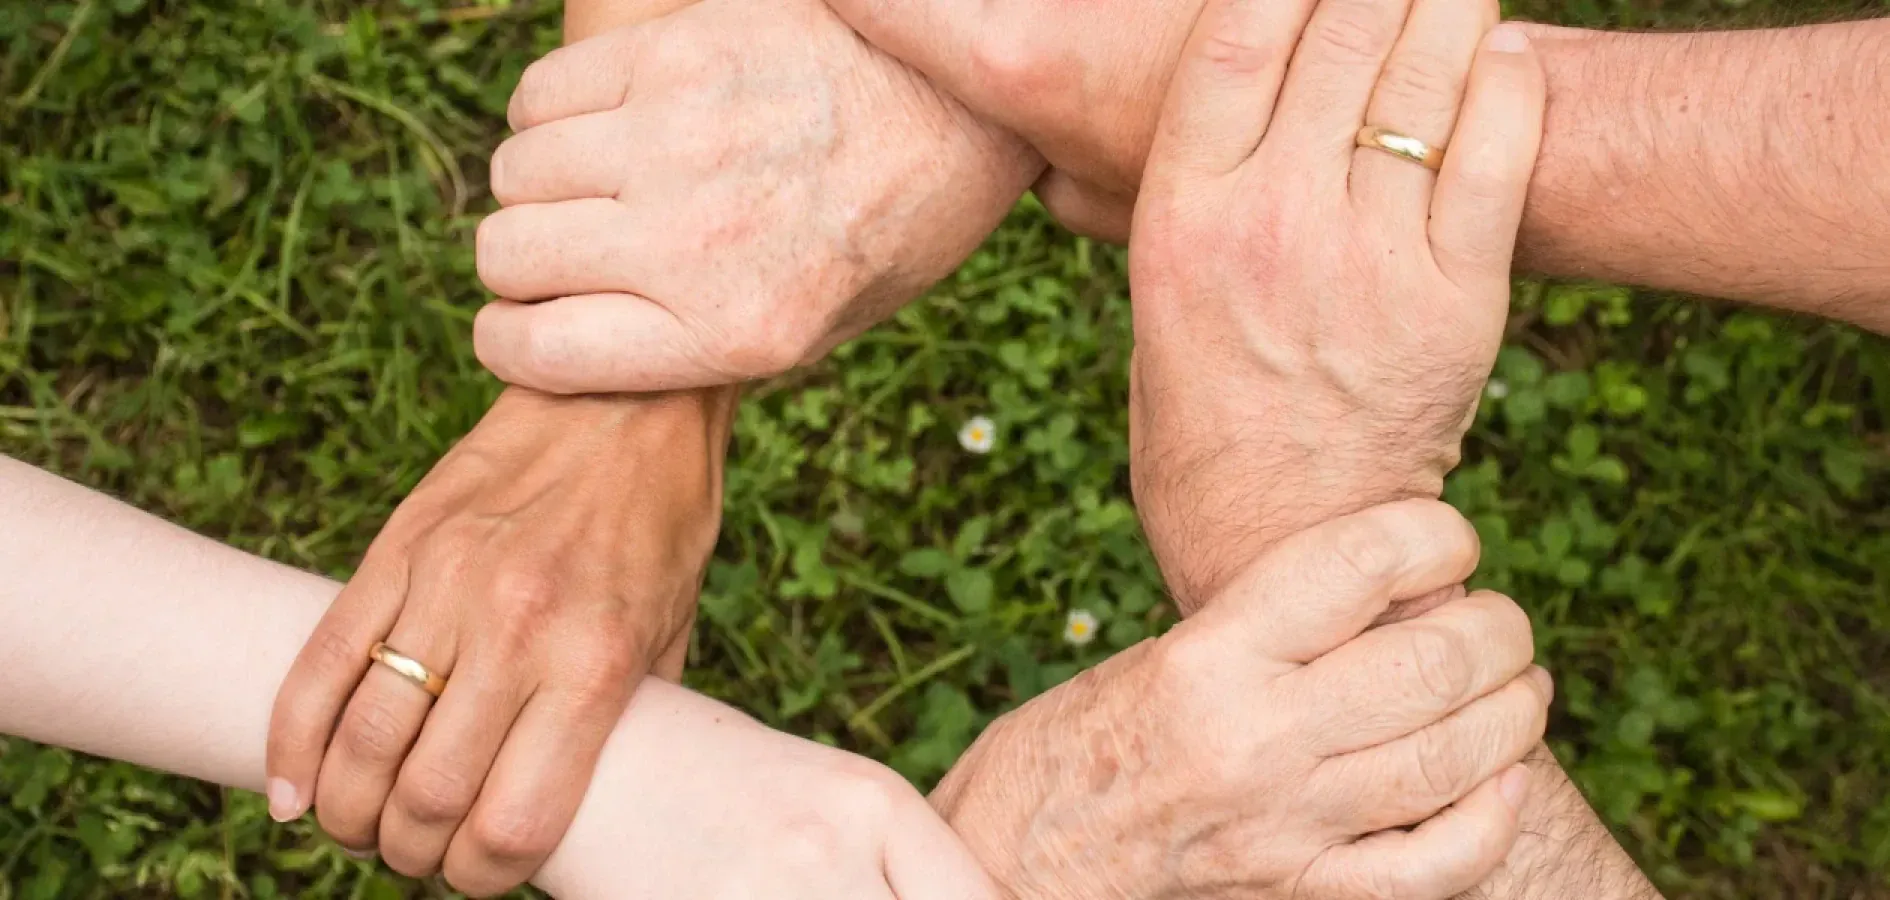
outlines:
[[[512,96],[474,342],[548,391],[816,359],[949,274],[1034,157],[818,0],[703,0],[554,51]]]

